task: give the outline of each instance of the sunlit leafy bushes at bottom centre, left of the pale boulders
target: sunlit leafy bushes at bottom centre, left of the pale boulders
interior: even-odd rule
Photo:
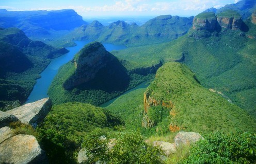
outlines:
[[[83,143],[88,156],[86,163],[161,163],[161,152],[146,144],[138,133],[121,132],[114,136],[116,138],[112,139],[113,147],[110,149],[110,138],[102,130],[96,129],[86,136]]]

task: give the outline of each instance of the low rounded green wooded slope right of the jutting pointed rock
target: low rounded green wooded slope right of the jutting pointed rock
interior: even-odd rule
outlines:
[[[82,141],[96,127],[111,129],[122,124],[121,120],[101,107],[79,102],[55,105],[46,116],[43,128],[54,129],[68,139]]]

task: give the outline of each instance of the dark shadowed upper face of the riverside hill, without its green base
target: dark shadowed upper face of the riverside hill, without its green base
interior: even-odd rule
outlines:
[[[106,51],[105,47],[99,42],[86,45],[76,54],[72,63],[75,69],[74,73],[63,83],[63,87],[67,90],[90,82],[95,78],[100,80],[98,78],[101,77],[97,76],[100,74],[104,74],[102,78],[105,76],[109,78],[106,81],[104,81],[104,78],[101,79],[102,82],[106,84],[113,76],[119,76],[121,81],[127,78],[126,69],[121,66],[117,58]],[[125,78],[123,79],[123,77]],[[115,78],[113,77],[113,79]],[[120,83],[120,80],[116,82]],[[95,81],[95,83],[99,83],[99,81]],[[123,83],[127,82],[123,81]],[[91,83],[88,85],[91,85]]]

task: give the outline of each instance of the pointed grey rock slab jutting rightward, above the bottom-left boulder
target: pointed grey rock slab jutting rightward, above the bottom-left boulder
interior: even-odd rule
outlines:
[[[52,101],[49,98],[44,98],[14,108],[6,113],[16,116],[22,123],[31,124],[35,127],[50,112],[51,107]]]

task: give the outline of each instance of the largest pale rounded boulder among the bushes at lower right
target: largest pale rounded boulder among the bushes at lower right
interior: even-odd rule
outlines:
[[[200,139],[204,139],[199,133],[196,132],[179,132],[174,139],[176,147],[180,147],[182,144],[189,145],[195,143]]]

